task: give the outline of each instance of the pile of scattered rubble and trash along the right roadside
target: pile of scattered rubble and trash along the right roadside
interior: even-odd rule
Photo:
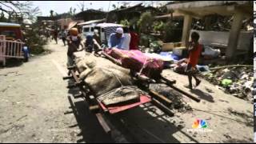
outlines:
[[[202,74],[207,81],[226,93],[253,102],[254,71],[252,66],[221,66]]]

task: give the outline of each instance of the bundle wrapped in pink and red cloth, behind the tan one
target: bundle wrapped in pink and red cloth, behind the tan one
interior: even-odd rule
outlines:
[[[121,62],[123,67],[144,74],[149,78],[159,78],[162,73],[164,62],[161,59],[146,56],[140,50],[113,48],[106,49],[105,52]]]

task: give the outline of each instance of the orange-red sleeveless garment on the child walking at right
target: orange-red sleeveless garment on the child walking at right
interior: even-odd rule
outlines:
[[[202,52],[202,45],[197,44],[194,47],[194,50],[190,51],[188,63],[193,67],[195,67],[198,64],[198,59],[200,57],[201,52]]]

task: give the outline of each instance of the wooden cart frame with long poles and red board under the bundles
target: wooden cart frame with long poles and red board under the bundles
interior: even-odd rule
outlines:
[[[97,53],[99,57],[106,58],[111,62],[114,62],[118,66],[122,66],[118,60],[111,57],[109,54],[106,54],[104,51]],[[195,98],[193,95],[186,93],[174,86],[175,80],[169,80],[167,78],[162,77],[160,74],[160,78],[148,78],[145,75],[138,74],[137,72],[131,74],[133,78],[136,79],[136,84],[140,90],[146,92],[146,94],[142,94],[139,98],[138,102],[129,102],[129,103],[122,103],[118,104],[117,106],[105,106],[102,102],[99,102],[95,95],[93,94],[93,90],[90,90],[90,86],[81,78],[79,78],[80,72],[78,71],[77,66],[70,66],[68,67],[68,76],[64,77],[63,79],[73,79],[74,84],[68,86],[68,88],[78,87],[81,91],[81,94],[74,95],[74,98],[84,98],[87,102],[90,111],[94,112],[96,117],[98,118],[98,122],[101,124],[102,128],[106,131],[106,133],[110,133],[111,129],[106,119],[104,118],[104,114],[117,114],[124,110],[130,110],[136,106],[152,103],[154,106],[157,106],[158,109],[162,110],[165,114],[169,116],[173,116],[174,112],[168,108],[172,104],[172,101],[169,98],[166,98],[162,94],[158,94],[158,92],[154,90],[150,90],[149,84],[150,83],[164,83],[167,86],[170,86],[174,90],[177,90],[179,93],[192,98],[196,102],[200,102],[200,99]]]

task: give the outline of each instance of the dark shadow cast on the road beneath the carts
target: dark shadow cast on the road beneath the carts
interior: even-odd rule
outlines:
[[[72,82],[70,80],[70,82]],[[78,90],[70,89],[69,94],[78,94]],[[69,96],[70,108],[82,131],[78,136],[82,136],[77,142],[116,142],[117,138],[106,134],[99,124],[96,116],[90,112],[84,100],[73,102]],[[174,126],[166,119],[166,114],[155,113],[155,108],[151,104],[126,110],[118,114],[105,114],[107,121],[115,130],[118,130],[128,142],[174,142],[180,143],[174,134],[182,133],[192,142],[198,142],[189,134],[182,131],[182,127]],[[153,116],[150,113],[154,113]],[[110,126],[110,127],[111,127]],[[150,127],[149,127],[150,126]],[[74,127],[74,126],[70,126]],[[167,130],[166,130],[167,129]],[[115,139],[115,140],[114,140]]]

